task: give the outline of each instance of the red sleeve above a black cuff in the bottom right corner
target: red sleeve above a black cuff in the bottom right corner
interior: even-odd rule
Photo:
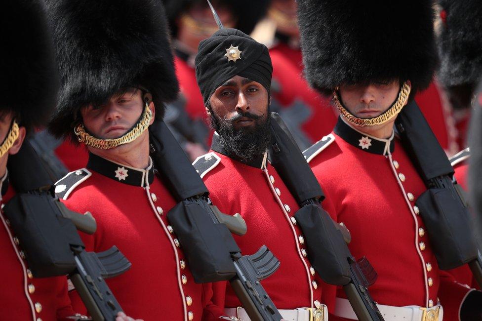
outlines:
[[[460,308],[471,291],[474,289],[458,283],[449,273],[440,271],[439,299],[444,320],[460,320]]]

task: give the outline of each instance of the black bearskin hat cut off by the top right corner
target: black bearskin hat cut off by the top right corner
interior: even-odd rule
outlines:
[[[470,85],[475,89],[482,76],[482,1],[440,0],[439,4],[438,79],[445,87]]]

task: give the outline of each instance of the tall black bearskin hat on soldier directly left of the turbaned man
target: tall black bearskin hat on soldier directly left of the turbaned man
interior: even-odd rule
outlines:
[[[49,124],[74,138],[81,107],[127,87],[152,93],[156,118],[177,97],[167,19],[160,0],[47,0],[61,89]]]

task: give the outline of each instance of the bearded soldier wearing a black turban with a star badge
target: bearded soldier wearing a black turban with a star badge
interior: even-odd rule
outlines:
[[[221,29],[201,41],[196,77],[216,132],[211,151],[194,166],[213,203],[245,220],[246,235],[235,237],[241,251],[255,252],[266,244],[281,261],[263,286],[283,318],[310,320],[310,309],[326,314],[322,294],[334,298],[334,287],[322,283],[311,267],[292,216],[299,206],[267,161],[272,71],[268,48],[239,30]],[[226,282],[213,287],[215,303],[224,304],[228,315],[248,320]]]

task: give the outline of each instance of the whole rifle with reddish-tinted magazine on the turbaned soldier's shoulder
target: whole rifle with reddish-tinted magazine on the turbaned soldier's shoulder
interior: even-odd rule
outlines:
[[[347,246],[349,233],[323,210],[323,191],[277,113],[271,114],[271,163],[300,209],[294,214],[307,241],[310,262],[328,284],[341,285],[361,321],[382,321],[368,286],[377,274],[366,258],[356,260]],[[345,234],[345,235],[344,235]]]

